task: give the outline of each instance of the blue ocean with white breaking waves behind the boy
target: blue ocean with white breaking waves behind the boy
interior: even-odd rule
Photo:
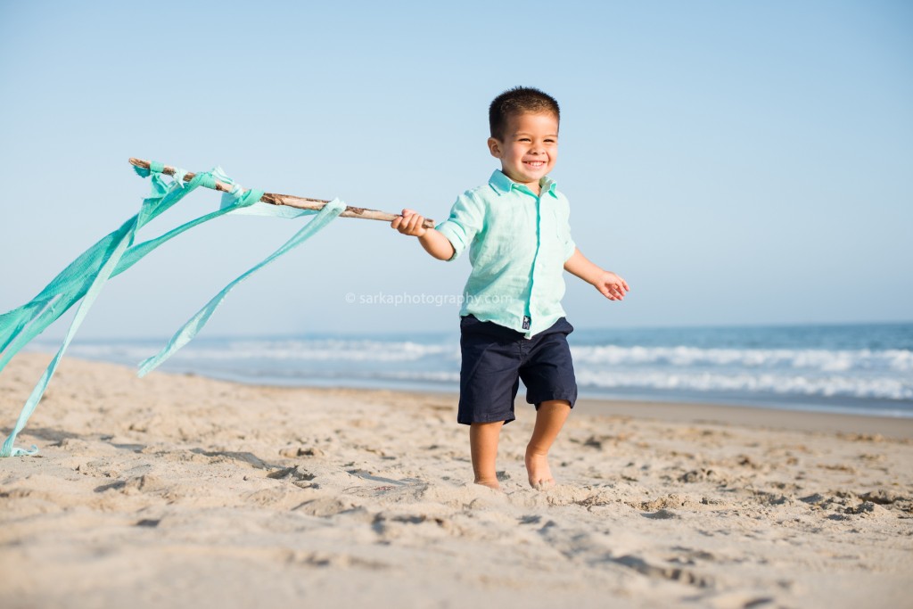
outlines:
[[[578,328],[569,341],[582,397],[913,417],[913,323]],[[164,342],[80,339],[68,353],[135,366]],[[162,370],[241,383],[456,393],[459,364],[456,331],[322,333],[200,337]]]

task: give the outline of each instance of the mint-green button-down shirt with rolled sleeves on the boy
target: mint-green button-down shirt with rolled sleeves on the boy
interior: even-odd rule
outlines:
[[[576,246],[571,207],[555,183],[542,178],[540,195],[499,170],[488,184],[461,194],[436,226],[454,247],[469,247],[469,274],[460,315],[522,332],[547,330],[564,316],[564,262]]]

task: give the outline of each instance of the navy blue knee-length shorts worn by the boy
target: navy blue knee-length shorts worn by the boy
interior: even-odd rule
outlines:
[[[526,401],[577,401],[567,335],[573,326],[563,317],[531,339],[493,321],[472,315],[460,319],[459,409],[456,421],[464,425],[504,421],[514,416],[519,381],[526,385]]]

